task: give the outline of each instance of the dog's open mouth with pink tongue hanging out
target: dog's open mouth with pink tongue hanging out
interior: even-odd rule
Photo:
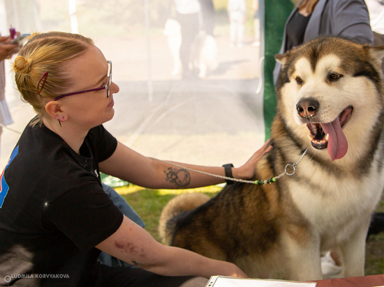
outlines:
[[[349,120],[353,107],[347,107],[332,123],[308,123],[308,137],[313,148],[322,150],[328,148],[331,160],[339,160],[346,155],[348,141],[342,127]]]

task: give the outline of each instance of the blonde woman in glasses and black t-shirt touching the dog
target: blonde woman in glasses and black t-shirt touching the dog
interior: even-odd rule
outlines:
[[[22,97],[38,115],[1,178],[0,285],[205,286],[211,275],[246,277],[232,263],[156,242],[103,191],[100,171],[150,188],[223,180],[186,171],[177,178],[183,169],[135,153],[103,128],[114,115],[119,87],[111,80],[112,63],[89,38],[35,35],[13,70]],[[270,149],[263,146],[233,168],[233,176],[252,178],[253,166]],[[225,174],[223,167],[183,165]],[[100,251],[140,268],[96,263]]]

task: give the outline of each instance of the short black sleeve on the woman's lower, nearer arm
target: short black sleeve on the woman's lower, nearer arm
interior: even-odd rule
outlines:
[[[45,219],[87,251],[117,231],[123,214],[95,180],[57,197],[47,207]]]

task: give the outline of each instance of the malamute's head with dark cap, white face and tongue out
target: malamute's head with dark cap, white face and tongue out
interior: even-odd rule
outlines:
[[[371,137],[382,125],[383,56],[384,46],[334,36],[277,54],[276,95],[287,127],[303,142],[308,135],[305,141],[319,153],[327,148],[332,161],[346,155],[348,144],[367,144],[359,137]]]

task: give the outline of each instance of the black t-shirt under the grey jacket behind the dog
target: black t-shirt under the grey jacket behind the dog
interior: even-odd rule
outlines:
[[[286,51],[289,51],[293,47],[302,45],[304,41],[305,29],[309,22],[311,15],[305,17],[301,15],[298,10],[292,15],[288,24],[286,32]]]

